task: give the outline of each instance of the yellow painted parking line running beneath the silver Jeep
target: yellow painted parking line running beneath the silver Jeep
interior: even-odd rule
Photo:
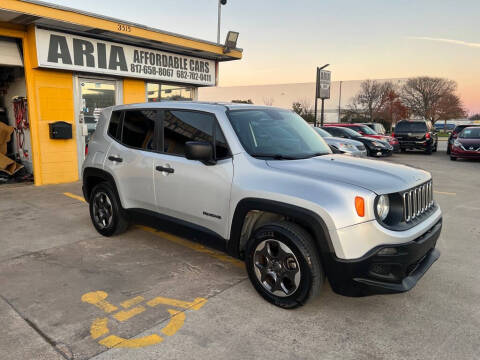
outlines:
[[[86,202],[83,197],[72,194],[72,193],[69,193],[69,192],[65,192],[65,193],[63,193],[63,195],[68,196],[72,199],[76,199],[76,200],[79,200],[79,201],[82,201],[82,202]],[[178,244],[178,245],[181,245],[183,247],[189,248],[189,249],[194,250],[196,252],[200,252],[200,253],[209,255],[209,256],[211,256],[211,257],[213,257],[217,260],[220,260],[222,262],[232,264],[232,265],[234,265],[236,267],[239,267],[239,268],[244,268],[245,267],[245,264],[244,264],[243,261],[240,261],[240,260],[235,259],[231,256],[228,256],[228,255],[226,255],[226,254],[224,254],[220,251],[210,249],[210,248],[208,248],[206,246],[203,246],[201,244],[189,241],[187,239],[184,239],[184,238],[181,238],[181,237],[169,234],[169,233],[166,233],[164,231],[153,229],[153,228],[148,227],[148,226],[136,225],[135,227],[137,229],[149,232],[151,234],[154,234],[156,236],[161,237],[162,239],[166,239],[170,242],[173,242],[175,244]]]

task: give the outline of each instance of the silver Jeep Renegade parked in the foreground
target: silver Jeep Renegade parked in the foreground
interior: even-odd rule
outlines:
[[[348,296],[411,289],[439,258],[428,172],[332,154],[292,111],[160,102],[105,109],[83,192],[97,231],[131,222],[181,231],[244,259],[283,308],[325,278]]]

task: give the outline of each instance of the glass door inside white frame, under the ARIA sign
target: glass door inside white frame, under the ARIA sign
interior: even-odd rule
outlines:
[[[121,104],[121,82],[101,78],[76,77],[78,168],[81,170],[88,141],[103,109]]]

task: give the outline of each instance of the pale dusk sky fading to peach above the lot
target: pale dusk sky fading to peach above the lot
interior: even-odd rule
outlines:
[[[216,0],[49,0],[215,41]],[[240,61],[221,64],[221,86],[429,75],[457,81],[480,113],[479,0],[228,0],[222,39],[240,32]]]

